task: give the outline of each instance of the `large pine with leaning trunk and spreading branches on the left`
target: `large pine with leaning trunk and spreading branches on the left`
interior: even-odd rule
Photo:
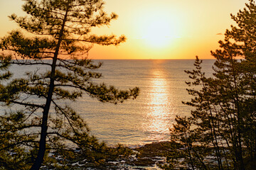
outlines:
[[[139,93],[138,88],[119,91],[92,81],[102,76],[94,71],[101,63],[87,60],[92,44],[119,45],[125,40],[124,36],[90,34],[91,28],[117,18],[115,13],[107,15],[103,6],[101,0],[25,0],[23,11],[28,16],[9,16],[30,34],[26,37],[14,30],[0,41],[1,49],[11,52],[1,55],[0,101],[14,108],[0,116],[0,167],[40,169],[43,162],[57,160],[46,157],[55,152],[67,168],[68,160],[98,161],[111,150],[97,142],[82,118],[65,104],[83,94],[119,103]],[[10,64],[38,69],[6,83]],[[73,152],[74,147],[80,152]]]

